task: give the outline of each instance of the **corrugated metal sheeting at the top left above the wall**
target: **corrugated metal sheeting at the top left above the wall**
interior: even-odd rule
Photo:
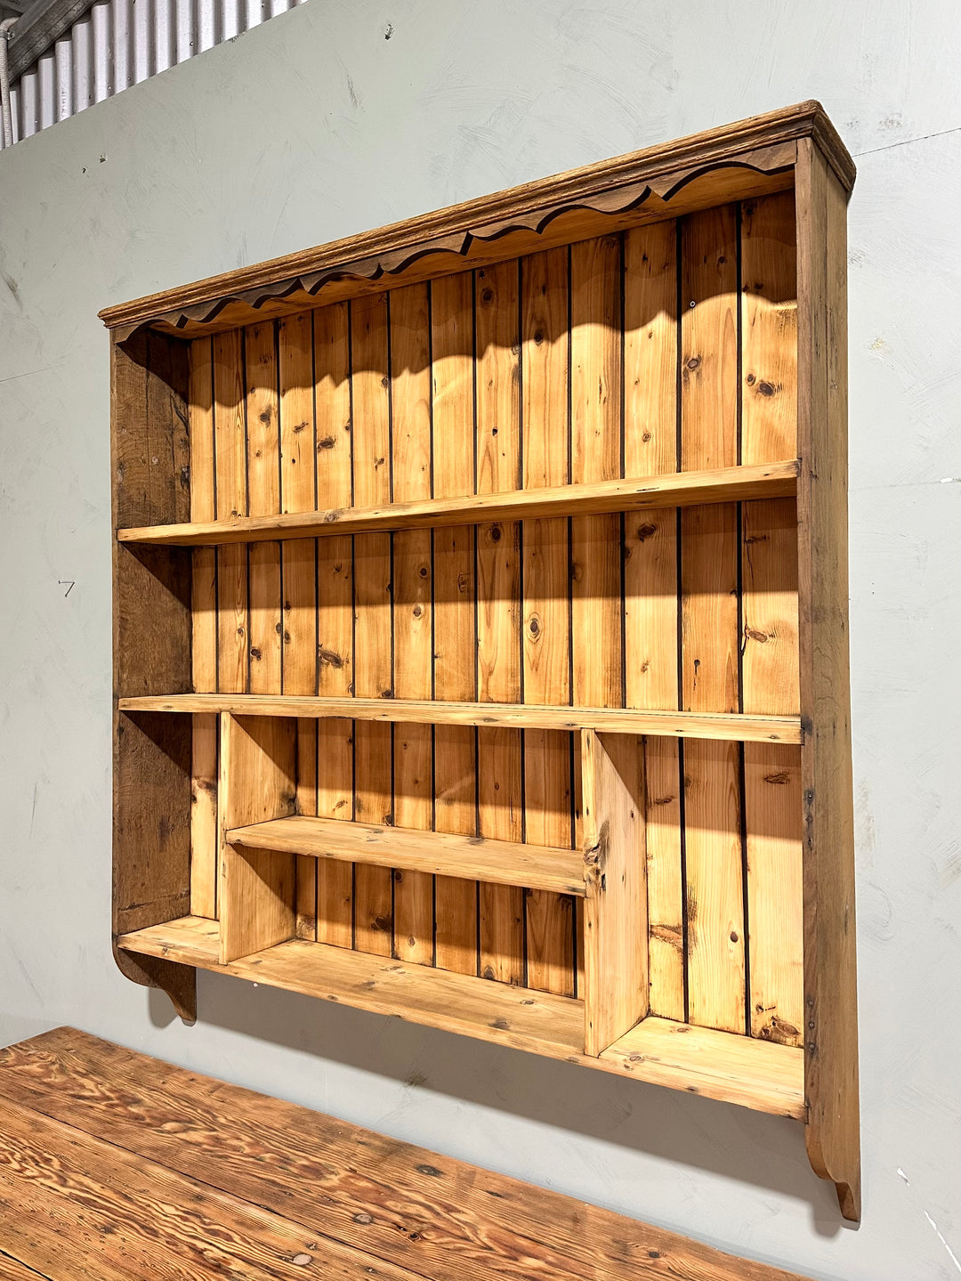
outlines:
[[[100,0],[13,86],[14,141],[302,3]]]

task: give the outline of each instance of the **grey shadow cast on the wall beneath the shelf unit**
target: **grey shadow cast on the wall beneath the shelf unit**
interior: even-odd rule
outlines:
[[[823,1236],[856,1227],[838,1217],[832,1185],[815,1179],[807,1164],[802,1126],[786,1117],[691,1094],[682,1098],[604,1072],[591,1072],[589,1080],[573,1063],[276,988],[255,991],[224,975],[197,971],[197,995],[201,1024],[806,1202]],[[173,1021],[164,993],[148,989],[148,1002],[155,1026]],[[416,1141],[409,1134],[394,1134]],[[447,1154],[470,1159],[457,1144]],[[509,1166],[505,1162],[499,1172],[512,1173]],[[568,1190],[573,1181],[562,1176],[554,1186]],[[612,1208],[645,1217],[637,1199]]]

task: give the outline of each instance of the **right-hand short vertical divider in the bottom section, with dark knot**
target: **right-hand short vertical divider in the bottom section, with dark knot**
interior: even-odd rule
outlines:
[[[647,885],[640,739],[581,733],[585,1053],[601,1054],[644,1018]]]

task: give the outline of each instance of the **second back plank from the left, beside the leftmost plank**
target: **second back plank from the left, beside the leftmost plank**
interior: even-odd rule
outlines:
[[[239,329],[214,338],[214,445],[216,518],[247,515],[247,424],[244,421],[243,352]],[[246,693],[247,546],[218,547],[218,688]]]

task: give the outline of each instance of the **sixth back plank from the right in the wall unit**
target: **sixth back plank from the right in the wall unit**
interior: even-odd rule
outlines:
[[[477,493],[521,488],[518,266],[476,273]],[[477,526],[477,697],[521,699],[521,524]],[[523,839],[521,731],[477,731],[481,836]],[[480,972],[523,984],[523,892],[480,886]]]

